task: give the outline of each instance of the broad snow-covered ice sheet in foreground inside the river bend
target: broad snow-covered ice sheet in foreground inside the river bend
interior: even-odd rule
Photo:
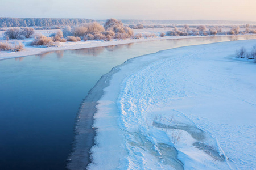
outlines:
[[[248,82],[244,82],[249,81],[256,85],[255,78],[251,76],[255,69],[245,62],[232,61],[225,57],[234,54],[240,46],[252,46],[255,43],[255,40],[221,42],[165,50],[129,59],[125,64],[102,76],[99,82],[102,81],[105,85],[98,87],[105,88],[100,91],[100,99],[94,103],[94,108],[97,108],[97,111],[94,109],[96,113],[93,125],[97,128],[96,145],[90,149],[93,162],[88,168],[253,168],[255,156],[250,150],[253,150],[255,142],[255,119],[247,118],[255,117],[251,114],[255,112],[255,100],[250,95],[255,92],[255,86],[250,86],[253,87],[251,91],[247,88]],[[250,74],[249,78],[243,75],[245,70]],[[207,76],[211,76],[215,82]],[[232,82],[225,82],[225,79]],[[226,84],[221,85],[220,80],[222,83],[224,80]],[[236,82],[239,86],[246,87],[243,89],[244,94],[242,90],[237,89],[239,86],[232,85]],[[224,88],[227,94],[221,95],[224,91],[221,91],[220,87]],[[232,94],[229,88],[237,90],[238,95]],[[230,121],[230,117],[239,118],[237,114],[241,109],[232,109],[229,103],[225,103],[227,99],[232,101],[232,107],[233,104],[241,104],[241,108],[250,115],[241,118],[242,122]],[[245,103],[239,103],[241,101],[251,103],[251,107],[247,108]],[[89,102],[88,100],[87,104]],[[230,112],[234,112],[234,115],[227,112],[225,117],[221,109],[214,109],[210,104],[222,110],[231,109]],[[228,107],[225,108],[225,105]],[[205,111],[209,112],[209,115],[205,115]],[[216,111],[220,113],[215,113]],[[68,165],[70,169],[84,169],[89,163],[85,157],[81,159],[81,155],[85,154],[83,147],[86,137],[82,130],[85,128],[82,113],[85,112],[81,109],[77,123],[79,135],[76,137],[75,152],[73,157],[71,155]],[[214,114],[220,118],[216,118]],[[240,129],[239,132],[246,134],[252,133],[251,137],[241,135],[241,141],[245,139],[249,142],[247,146],[240,146],[243,151],[229,149],[237,148],[237,142],[241,142],[232,141],[238,139],[232,134],[237,131],[232,131],[232,128]],[[225,135],[229,135],[230,140]],[[87,149],[89,154],[88,151]],[[240,154],[237,154],[238,152]],[[239,162],[239,159],[242,161]]]

